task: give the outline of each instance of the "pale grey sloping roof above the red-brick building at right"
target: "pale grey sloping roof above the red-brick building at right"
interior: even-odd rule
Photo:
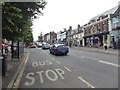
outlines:
[[[104,13],[101,13],[101,14],[95,16],[95,17],[93,17],[91,20],[95,20],[95,19],[99,18],[100,16],[106,16],[106,15],[114,14],[117,9],[118,9],[118,6],[112,8],[112,9],[110,9],[110,10],[104,12]]]

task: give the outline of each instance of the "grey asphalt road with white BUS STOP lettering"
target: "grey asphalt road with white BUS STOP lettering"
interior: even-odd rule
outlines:
[[[70,49],[67,56],[28,49],[19,88],[118,88],[118,57]]]

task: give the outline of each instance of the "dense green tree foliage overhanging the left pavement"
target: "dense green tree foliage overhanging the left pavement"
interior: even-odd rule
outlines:
[[[32,19],[42,15],[47,3],[4,2],[2,4],[2,36],[8,40],[33,41]]]

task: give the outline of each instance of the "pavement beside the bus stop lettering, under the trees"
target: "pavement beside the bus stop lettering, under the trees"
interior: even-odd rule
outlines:
[[[6,63],[7,63],[7,72],[5,76],[2,76],[2,88],[11,88],[15,79],[17,78],[18,71],[20,69],[21,64],[24,62],[24,58],[26,56],[26,52],[19,59],[12,59],[11,54],[7,55]]]

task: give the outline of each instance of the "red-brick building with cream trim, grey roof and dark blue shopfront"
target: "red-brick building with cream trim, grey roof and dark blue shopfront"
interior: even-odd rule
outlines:
[[[84,25],[84,45],[85,46],[101,46],[107,43],[108,47],[111,47],[111,15],[117,10],[114,7],[90,20],[90,22]]]

